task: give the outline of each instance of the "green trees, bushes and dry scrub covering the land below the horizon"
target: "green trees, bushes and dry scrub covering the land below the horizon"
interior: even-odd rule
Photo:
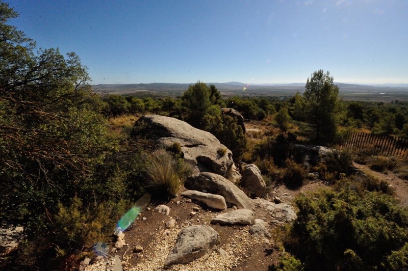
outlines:
[[[298,219],[282,230],[280,265],[272,269],[397,270],[408,262],[408,213],[387,182],[350,171],[354,157],[376,171],[408,179],[406,158],[335,151],[306,167],[290,146],[336,147],[350,130],[408,136],[408,103],[345,102],[328,72],[316,71],[306,91],[285,98],[222,98],[197,82],[178,98],[99,96],[74,53],[40,50],[7,24],[17,14],[0,3],[0,216],[22,225],[17,250],[2,255],[1,268],[59,268],[93,253],[109,240],[115,223],[141,195],[166,200],[190,169],[180,145],[155,151],[131,137],[142,114],[184,120],[213,133],[232,150],[237,166],[254,163],[266,182],[302,186],[309,173],[333,189],[296,200]],[[38,50],[38,51],[37,51]],[[259,131],[247,131],[231,107]],[[217,153],[225,155],[226,149]],[[355,156],[358,154],[359,156]]]

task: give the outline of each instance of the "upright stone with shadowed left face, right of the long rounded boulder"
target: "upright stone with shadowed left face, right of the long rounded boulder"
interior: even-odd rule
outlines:
[[[262,197],[266,191],[266,184],[261,171],[254,164],[243,167],[240,185],[243,191],[252,197]]]

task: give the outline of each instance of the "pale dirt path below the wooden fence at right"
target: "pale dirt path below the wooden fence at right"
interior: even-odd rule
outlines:
[[[357,164],[353,162],[353,166],[367,175],[373,176],[379,180],[386,180],[389,184],[395,188],[395,197],[401,201],[402,206],[408,206],[408,181],[398,178],[395,173],[392,172],[376,172],[371,170],[366,165]]]

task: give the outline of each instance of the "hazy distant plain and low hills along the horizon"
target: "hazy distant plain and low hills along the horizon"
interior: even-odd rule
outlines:
[[[304,91],[305,83],[292,84],[244,84],[240,82],[227,83],[206,83],[215,85],[217,89],[225,96],[231,95],[259,95],[259,96],[291,96],[296,92]],[[382,84],[382,85],[358,85],[335,83],[339,86],[340,95],[408,95],[408,84]],[[169,95],[179,96],[183,94],[191,84],[174,83],[151,83],[151,84],[101,84],[94,85],[92,88],[98,93],[109,94],[133,94],[133,95]]]

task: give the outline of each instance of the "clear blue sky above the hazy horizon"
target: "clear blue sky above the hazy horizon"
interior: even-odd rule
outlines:
[[[92,84],[408,83],[407,0],[5,0]]]

